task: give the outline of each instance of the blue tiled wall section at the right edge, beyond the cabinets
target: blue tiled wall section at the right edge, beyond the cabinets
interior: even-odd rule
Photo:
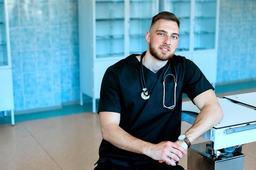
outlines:
[[[256,0],[220,0],[217,82],[256,78]]]

